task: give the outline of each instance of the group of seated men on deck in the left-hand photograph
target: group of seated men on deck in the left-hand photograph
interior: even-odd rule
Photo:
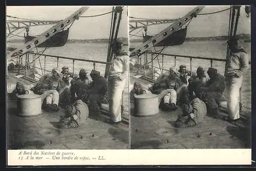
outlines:
[[[59,128],[77,128],[89,116],[89,110],[99,113],[101,103],[109,103],[108,82],[100,72],[92,70],[89,80],[84,69],[77,74],[69,72],[68,67],[53,68],[51,73],[43,75],[34,87],[16,83],[13,95],[41,95],[42,110],[58,112],[59,106],[66,108],[65,115],[58,123]]]

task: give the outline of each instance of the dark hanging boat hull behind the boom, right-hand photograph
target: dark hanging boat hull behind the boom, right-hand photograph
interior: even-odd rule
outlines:
[[[169,35],[167,38],[155,45],[155,47],[182,45],[185,41],[186,33],[187,28],[185,27],[184,29],[178,30],[173,34]],[[149,40],[152,37],[153,36],[150,35],[143,36],[143,42]]]

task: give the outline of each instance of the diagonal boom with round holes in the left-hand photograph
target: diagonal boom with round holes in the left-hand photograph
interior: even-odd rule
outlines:
[[[59,31],[63,30],[65,27],[67,27],[71,23],[73,23],[88,8],[89,7],[82,7],[82,8],[80,8],[79,10],[74,12],[72,15],[70,15],[66,19],[63,19],[63,20],[59,21],[55,26],[53,26],[52,28],[50,28],[46,32],[40,34],[38,37],[35,37],[31,41],[27,42],[25,45],[17,48],[15,51],[9,53],[8,56],[7,56],[7,60],[11,61],[17,55],[23,55],[26,52],[30,51],[31,49],[35,48],[37,45],[40,45],[42,42],[46,41],[50,37],[52,37],[55,34],[57,34]]]

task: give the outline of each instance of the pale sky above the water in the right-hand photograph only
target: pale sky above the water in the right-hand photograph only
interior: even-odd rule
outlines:
[[[196,6],[131,6],[129,7],[129,16],[137,18],[152,19],[175,19],[180,18]],[[230,6],[205,6],[200,13],[210,13],[229,8]],[[134,18],[131,18],[131,20]],[[164,30],[170,24],[150,26],[147,28],[147,34],[152,35]],[[187,37],[208,37],[228,35],[229,10],[210,15],[197,15],[193,18],[187,27]],[[240,10],[238,24],[238,34],[250,34],[250,17],[246,17],[245,7]],[[136,33],[140,29],[133,31]],[[142,35],[143,30],[136,35]],[[131,39],[138,38],[131,36]]]

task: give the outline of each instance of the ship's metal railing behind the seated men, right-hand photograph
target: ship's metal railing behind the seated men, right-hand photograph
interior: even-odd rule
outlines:
[[[142,63],[142,58],[143,59],[143,63]],[[148,61],[148,58],[151,57],[151,60]],[[161,58],[161,60],[159,60],[159,57]],[[193,59],[200,59],[200,60],[208,60],[209,61],[209,66],[213,67],[213,63],[214,61],[222,61],[222,62],[226,62],[226,59],[220,59],[220,58],[209,58],[209,57],[199,57],[199,56],[187,56],[187,55],[174,55],[174,54],[166,54],[166,53],[158,53],[158,52],[151,52],[151,51],[146,51],[144,53],[144,56],[139,56],[137,58],[137,63],[140,66],[143,66],[143,76],[146,77],[146,70],[148,68],[150,68],[151,71],[151,75],[152,78],[151,79],[155,79],[155,74],[157,75],[161,75],[164,71],[168,71],[168,69],[164,68],[164,63],[167,61],[165,60],[165,57],[173,57],[173,58],[168,58],[168,61],[173,60],[174,61],[174,67],[176,67],[177,64],[177,58],[188,58],[190,59],[190,72],[192,73],[192,68],[193,68]],[[154,62],[157,61],[157,65],[154,65]],[[160,71],[157,72],[157,70]],[[148,75],[147,75],[148,76]]]

